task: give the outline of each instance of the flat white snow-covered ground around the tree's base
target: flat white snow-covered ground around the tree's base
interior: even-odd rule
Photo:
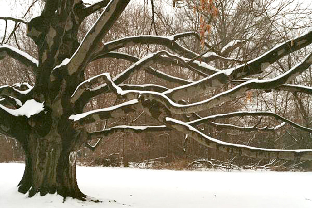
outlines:
[[[312,207],[312,172],[171,171],[77,167],[81,191],[103,201],[17,192],[24,164],[0,163],[0,207]],[[114,201],[115,200],[115,201]]]

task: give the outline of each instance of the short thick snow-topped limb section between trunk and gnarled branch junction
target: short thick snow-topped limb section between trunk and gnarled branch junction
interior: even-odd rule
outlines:
[[[96,121],[119,118],[139,110],[142,110],[141,104],[137,99],[133,99],[109,108],[97,109],[81,114],[71,115],[69,119],[73,120],[75,129],[80,129],[85,125],[94,123]]]

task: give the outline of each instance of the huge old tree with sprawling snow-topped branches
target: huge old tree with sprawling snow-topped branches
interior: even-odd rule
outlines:
[[[312,32],[285,41],[266,53],[234,68],[220,70],[211,65],[212,60],[241,63],[224,57],[234,50],[238,42],[223,50],[201,56],[178,40],[202,38],[195,32],[172,36],[141,35],[121,37],[104,42],[105,36],[126,8],[130,0],[104,0],[85,5],[81,0],[45,0],[41,15],[27,22],[21,18],[1,17],[6,21],[27,24],[27,36],[37,45],[37,59],[9,46],[0,46],[0,57],[12,57],[32,70],[34,86],[28,83],[0,87],[0,131],[19,141],[25,150],[25,171],[18,190],[37,192],[41,195],[55,193],[85,199],[76,182],[76,151],[83,145],[94,148],[88,142],[94,138],[107,137],[115,132],[159,132],[174,130],[187,134],[199,143],[220,151],[254,158],[281,158],[290,160],[312,160],[312,150],[277,150],[256,148],[222,142],[205,135],[198,125],[206,123],[218,128],[245,131],[274,131],[280,128],[238,127],[213,122],[234,116],[269,116],[295,128],[312,133],[312,129],[300,126],[273,112],[232,112],[201,118],[197,112],[210,109],[225,101],[235,99],[249,90],[272,89],[312,94],[312,89],[289,83],[312,64],[312,54],[285,73],[271,79],[248,79],[260,74],[271,64],[312,43]],[[174,1],[176,2],[176,1]],[[103,10],[85,37],[79,42],[80,25],[89,15]],[[14,34],[14,33],[12,33]],[[167,50],[150,53],[143,58],[116,52],[126,46],[154,44]],[[213,48],[210,47],[213,51]],[[134,62],[122,73],[111,78],[102,73],[85,80],[88,65],[98,59],[115,58]],[[152,65],[178,65],[200,75],[198,81],[185,80],[155,70]],[[159,85],[122,84],[139,70],[181,86],[167,89]],[[111,71],[111,69],[109,70]],[[235,80],[235,82],[233,82]],[[232,88],[209,99],[188,103],[183,99],[205,93],[209,89],[222,88],[230,82]],[[108,108],[84,112],[86,104],[97,96],[112,93],[122,100],[121,104]],[[203,96],[205,97],[205,96]],[[144,111],[158,121],[157,126],[116,126],[98,132],[88,132],[87,126],[98,121],[115,119],[134,112]],[[190,118],[195,118],[190,120]]]

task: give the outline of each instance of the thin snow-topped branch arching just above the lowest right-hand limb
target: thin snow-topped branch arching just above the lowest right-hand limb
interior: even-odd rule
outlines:
[[[278,119],[278,120],[281,120],[285,123],[288,123],[297,129],[312,133],[312,128],[307,128],[307,127],[301,126],[295,122],[292,122],[289,119],[286,119],[286,118],[284,118],[278,114],[275,114],[273,112],[268,112],[268,111],[258,111],[258,112],[238,111],[238,112],[233,112],[233,113],[228,113],[228,114],[217,114],[217,115],[207,116],[207,117],[204,117],[201,119],[191,121],[188,124],[194,126],[194,125],[199,125],[199,124],[205,123],[205,122],[211,122],[211,121],[214,121],[216,119],[232,118],[235,116],[240,116],[240,117],[242,117],[242,116],[271,116],[271,117],[274,117],[275,119]],[[277,127],[275,127],[275,128],[277,128]]]

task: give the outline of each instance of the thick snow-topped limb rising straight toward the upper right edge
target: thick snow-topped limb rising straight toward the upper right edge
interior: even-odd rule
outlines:
[[[201,93],[209,88],[220,87],[231,80],[241,79],[250,75],[259,74],[270,64],[279,60],[283,56],[297,51],[307,45],[310,45],[311,43],[312,31],[294,40],[286,41],[282,44],[279,44],[273,47],[270,51],[264,53],[263,55],[248,61],[246,64],[217,72],[214,75],[211,75],[192,84],[171,89],[166,94],[167,96],[175,100],[179,100],[189,93]]]

